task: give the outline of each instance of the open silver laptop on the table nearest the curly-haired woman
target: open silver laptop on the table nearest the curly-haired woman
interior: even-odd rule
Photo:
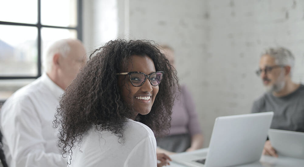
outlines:
[[[207,153],[181,153],[171,158],[194,167],[224,167],[258,161],[272,117],[273,112],[218,117]]]

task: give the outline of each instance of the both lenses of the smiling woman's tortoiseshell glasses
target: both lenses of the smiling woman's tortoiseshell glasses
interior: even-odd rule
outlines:
[[[131,73],[130,80],[134,86],[140,86],[146,79],[146,76],[143,73]],[[157,86],[161,83],[162,73],[152,73],[150,75],[150,83],[153,86]]]

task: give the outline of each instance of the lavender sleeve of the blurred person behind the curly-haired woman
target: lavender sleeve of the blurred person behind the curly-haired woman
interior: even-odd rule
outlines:
[[[185,102],[185,107],[189,115],[188,129],[190,135],[193,136],[195,134],[202,133],[199,124],[198,114],[195,111],[195,104],[192,95],[185,86],[182,87],[182,94],[183,94],[183,100]]]

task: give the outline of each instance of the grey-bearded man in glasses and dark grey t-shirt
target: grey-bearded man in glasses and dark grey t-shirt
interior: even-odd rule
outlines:
[[[269,48],[260,59],[259,75],[267,92],[254,101],[252,111],[274,111],[271,128],[304,132],[304,85],[291,80],[295,58],[285,48]],[[263,154],[278,156],[269,140]]]

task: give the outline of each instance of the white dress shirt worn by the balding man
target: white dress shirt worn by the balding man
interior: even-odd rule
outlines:
[[[52,121],[63,94],[47,74],[16,91],[0,112],[3,149],[9,167],[66,167]]]

